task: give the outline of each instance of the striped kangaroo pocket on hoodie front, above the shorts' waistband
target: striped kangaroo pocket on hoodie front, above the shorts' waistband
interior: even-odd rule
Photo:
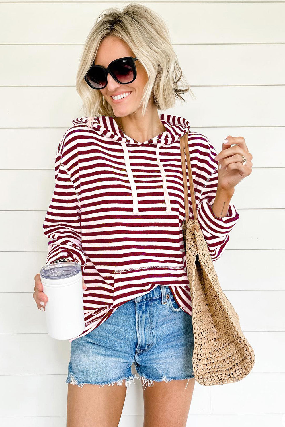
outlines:
[[[152,290],[153,284],[187,286],[189,281],[181,265],[153,265],[115,270],[113,307],[131,300],[135,293]]]

